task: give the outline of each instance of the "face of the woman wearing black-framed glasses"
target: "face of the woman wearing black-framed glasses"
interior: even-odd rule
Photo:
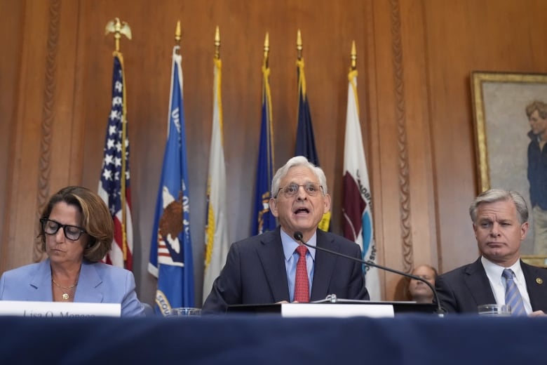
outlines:
[[[55,228],[55,223],[81,227],[81,213],[79,208],[60,201],[53,206],[45,225]],[[53,221],[53,222],[51,222]],[[53,234],[46,234],[46,253],[51,263],[63,265],[80,265],[83,260],[83,249],[88,244],[88,235],[82,233],[73,241],[65,236],[65,230],[74,232],[74,227],[59,227]],[[83,230],[83,228],[82,228]],[[77,230],[76,230],[77,231]],[[69,234],[70,236],[70,234]]]

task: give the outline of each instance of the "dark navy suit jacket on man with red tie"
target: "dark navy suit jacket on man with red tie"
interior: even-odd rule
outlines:
[[[317,230],[317,246],[361,258],[357,244],[336,234]],[[316,250],[311,299],[368,300],[362,265],[353,260]],[[266,304],[290,300],[281,227],[230,246],[226,265],[212,284],[203,312],[225,312],[234,304]]]

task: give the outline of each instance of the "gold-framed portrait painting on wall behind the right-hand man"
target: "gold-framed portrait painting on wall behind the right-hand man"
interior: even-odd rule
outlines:
[[[547,266],[547,237],[544,244],[534,244],[534,216],[538,223],[542,216],[535,215],[530,196],[537,206],[538,191],[547,192],[547,179],[538,183],[537,174],[544,172],[536,161],[545,154],[541,157],[539,127],[533,129],[529,118],[532,110],[534,117],[541,114],[547,128],[547,74],[476,71],[471,73],[471,92],[479,190],[499,187],[522,194],[529,210],[529,230],[521,246],[523,259]],[[547,224],[547,215],[545,218]]]

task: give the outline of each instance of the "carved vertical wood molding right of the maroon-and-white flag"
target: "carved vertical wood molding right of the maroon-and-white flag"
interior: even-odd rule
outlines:
[[[399,0],[391,0],[391,34],[393,36],[393,74],[395,86],[395,117],[399,165],[399,211],[403,244],[403,271],[412,272],[412,232],[410,223],[410,176],[408,170],[407,131],[405,118],[405,81],[403,72],[403,45],[400,30]]]

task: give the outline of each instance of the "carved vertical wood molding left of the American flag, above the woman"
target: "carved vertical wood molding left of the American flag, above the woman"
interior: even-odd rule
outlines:
[[[48,24],[48,47],[46,56],[46,80],[43,89],[43,107],[41,119],[40,156],[38,161],[38,191],[36,197],[36,219],[38,222],[41,211],[49,196],[49,176],[51,161],[51,139],[53,135],[53,121],[55,119],[55,74],[57,71],[57,53],[59,41],[59,22],[61,18],[61,0],[50,0],[49,24]],[[37,237],[40,233],[39,225],[36,225]],[[34,241],[32,260],[37,263],[43,258],[41,241]]]

